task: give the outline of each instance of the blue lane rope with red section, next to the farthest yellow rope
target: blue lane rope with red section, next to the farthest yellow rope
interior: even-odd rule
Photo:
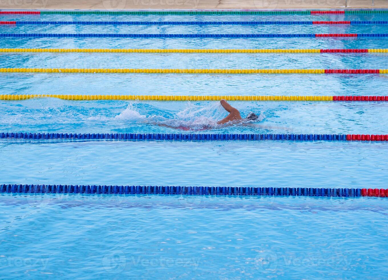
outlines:
[[[327,35],[327,36],[326,36]],[[359,33],[359,34],[55,34],[55,33],[1,33],[0,37],[116,37],[116,38],[293,38],[293,37],[388,37],[388,33]]]

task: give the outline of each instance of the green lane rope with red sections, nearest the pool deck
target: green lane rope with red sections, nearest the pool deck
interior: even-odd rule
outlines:
[[[109,15],[307,15],[307,14],[387,14],[386,9],[360,10],[53,10],[53,11],[0,11],[0,14],[109,14]]]

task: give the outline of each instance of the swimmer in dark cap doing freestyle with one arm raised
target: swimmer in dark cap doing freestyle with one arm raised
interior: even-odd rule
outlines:
[[[225,127],[225,126],[240,124],[240,123],[245,124],[246,122],[254,121],[254,120],[257,120],[259,118],[255,113],[249,113],[246,118],[241,118],[239,110],[230,106],[230,104],[227,103],[224,99],[222,99],[220,101],[220,103],[221,103],[222,107],[229,113],[229,115],[227,115],[227,117],[225,117],[222,120],[219,120],[217,122],[217,124],[220,126]],[[158,125],[163,126],[163,127],[173,128],[173,129],[181,129],[181,130],[185,130],[185,131],[191,130],[191,127],[185,127],[185,126],[174,127],[174,126],[166,125],[163,123],[159,123]],[[211,127],[209,125],[205,125],[202,129],[199,129],[199,130],[206,130],[206,129],[212,129],[212,128],[214,128],[214,127]]]

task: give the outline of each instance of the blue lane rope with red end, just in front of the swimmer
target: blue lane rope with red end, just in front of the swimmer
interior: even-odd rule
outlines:
[[[0,139],[175,140],[175,141],[388,141],[388,134],[182,134],[182,133],[25,133],[2,132]]]

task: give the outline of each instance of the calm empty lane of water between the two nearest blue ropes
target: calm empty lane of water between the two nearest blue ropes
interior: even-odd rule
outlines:
[[[2,141],[3,183],[386,188],[386,143]]]

